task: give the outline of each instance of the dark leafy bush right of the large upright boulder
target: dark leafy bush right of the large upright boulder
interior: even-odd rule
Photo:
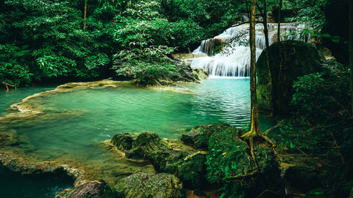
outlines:
[[[349,116],[349,68],[328,61],[321,73],[294,82],[292,106],[311,123],[335,123]]]

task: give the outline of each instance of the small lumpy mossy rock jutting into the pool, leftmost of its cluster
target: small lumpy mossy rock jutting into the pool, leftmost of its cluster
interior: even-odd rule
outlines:
[[[110,143],[124,151],[128,159],[146,159],[151,151],[170,149],[155,132],[119,133],[114,135]]]

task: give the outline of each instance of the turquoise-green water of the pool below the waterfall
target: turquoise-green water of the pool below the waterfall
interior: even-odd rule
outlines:
[[[131,173],[154,172],[151,165],[126,161],[102,143],[116,133],[152,131],[172,140],[201,123],[223,121],[239,128],[249,123],[249,78],[208,79],[200,85],[184,86],[192,93],[124,83],[117,88],[47,94],[35,99],[46,114],[8,126],[16,130],[20,141],[16,147],[2,149],[24,153],[36,161],[70,164],[85,170],[90,179],[102,178],[114,185]],[[20,96],[48,88],[28,87],[16,91],[12,98],[0,97],[1,101],[18,101]],[[6,105],[0,108],[6,109]],[[261,118],[263,130],[272,124],[272,120]]]

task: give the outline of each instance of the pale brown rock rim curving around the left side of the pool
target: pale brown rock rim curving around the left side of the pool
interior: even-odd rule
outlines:
[[[188,83],[188,82],[183,82]],[[190,82],[194,83],[194,82]],[[107,89],[107,88],[118,88],[119,85],[135,85],[136,87],[141,87],[133,83],[133,81],[114,81],[114,80],[98,80],[92,82],[68,82],[64,85],[59,85],[55,89],[32,94],[25,97],[20,102],[11,104],[11,106],[6,109],[9,111],[15,111],[11,113],[6,113],[5,116],[0,117],[0,123],[11,123],[13,120],[26,120],[30,118],[38,118],[46,114],[45,111],[38,108],[38,106],[32,106],[29,101],[39,97],[44,97],[50,94],[56,93],[67,93],[73,92],[79,89]],[[157,90],[167,90],[173,92],[179,92],[184,94],[193,94],[189,89],[178,86],[148,86],[141,87],[145,89],[157,89]],[[59,113],[60,114],[60,113]],[[20,156],[13,151],[2,151],[0,152],[0,166],[12,171],[14,173],[20,173],[22,175],[58,175],[58,176],[68,176],[73,178],[73,186],[78,187],[85,183],[91,182],[93,180],[88,180],[85,178],[85,171],[79,168],[71,167],[67,164],[59,164],[53,161],[30,161],[29,156]]]

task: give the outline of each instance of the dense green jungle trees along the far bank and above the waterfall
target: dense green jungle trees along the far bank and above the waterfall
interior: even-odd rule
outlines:
[[[310,22],[318,31],[325,2],[283,1],[282,9],[299,13],[286,20]],[[277,6],[268,1],[268,11]],[[116,75],[161,78],[175,72],[169,54],[195,49],[248,10],[248,1],[1,1],[0,80],[18,87]]]

